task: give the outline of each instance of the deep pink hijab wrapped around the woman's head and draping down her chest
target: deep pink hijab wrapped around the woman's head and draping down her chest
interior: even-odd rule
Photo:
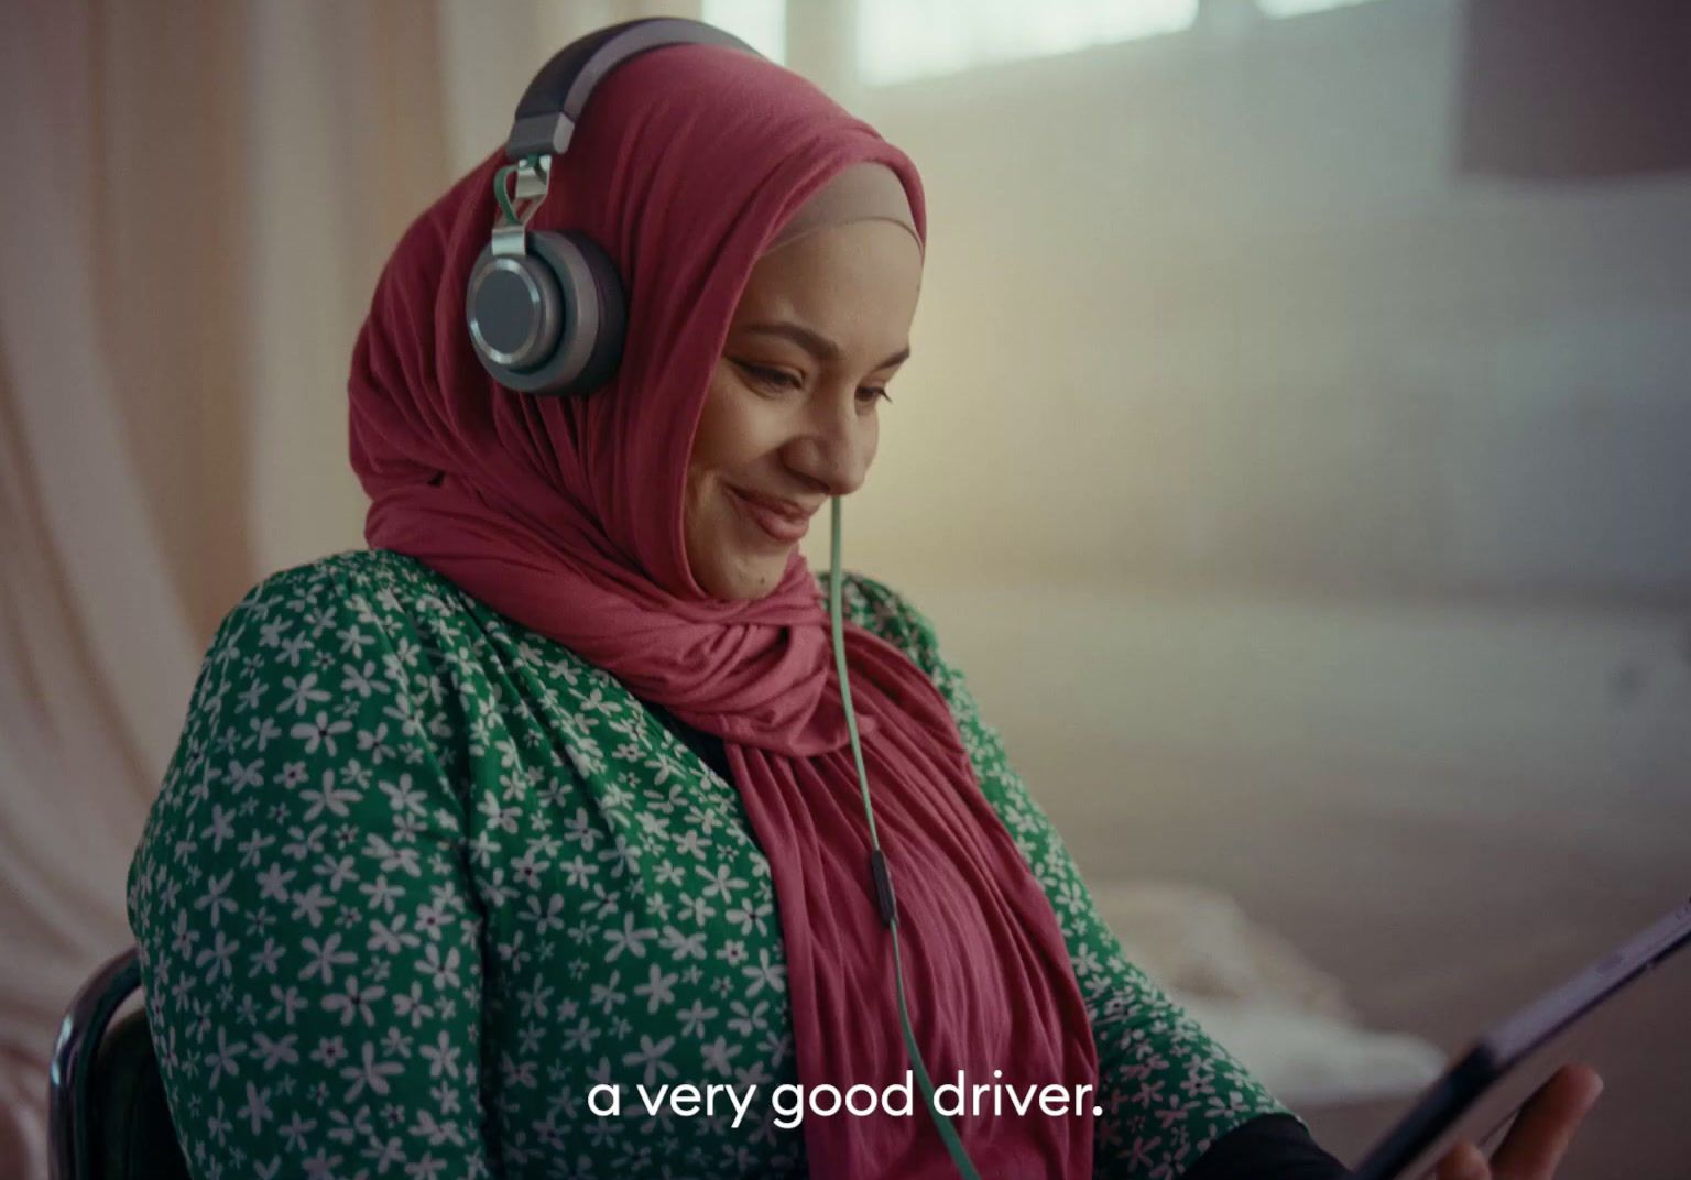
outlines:
[[[675,46],[621,66],[555,161],[533,228],[578,227],[621,267],[621,370],[588,399],[499,387],[463,292],[495,221],[502,150],[406,230],[353,352],[352,467],[365,539],[411,554],[632,693],[724,739],[773,874],[798,1079],[903,1084],[891,937],[825,604],[802,553],[768,597],[724,602],[688,570],[681,492],[712,369],[754,260],[842,169],[888,166],[925,238],[915,166],[768,61]],[[876,828],[900,903],[911,1028],[935,1084],[1097,1084],[1055,915],[976,783],[945,700],[847,627]],[[994,1070],[1003,1070],[994,1077]],[[695,1079],[698,1080],[698,1079]],[[1096,1089],[1092,1090],[1096,1095]],[[908,1116],[807,1116],[810,1175],[954,1175],[913,1087]],[[1091,1177],[1092,1116],[954,1119],[994,1177]]]

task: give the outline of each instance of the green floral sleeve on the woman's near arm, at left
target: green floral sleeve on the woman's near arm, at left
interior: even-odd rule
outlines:
[[[487,1178],[480,920],[418,651],[320,568],[220,626],[129,872],[196,1180]]]

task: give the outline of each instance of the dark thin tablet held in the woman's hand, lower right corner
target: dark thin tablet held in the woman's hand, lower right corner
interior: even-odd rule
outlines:
[[[1424,1180],[1463,1139],[1491,1155],[1515,1112],[1562,1065],[1584,1062],[1603,1072],[1603,1031],[1620,1009],[1612,1001],[1623,992],[1637,1001],[1645,987],[1674,987],[1672,972],[1662,967],[1688,942],[1691,901],[1491,1028],[1451,1058],[1351,1180]],[[1674,969],[1686,964],[1691,957]],[[1677,994],[1691,996],[1691,981],[1681,979]]]

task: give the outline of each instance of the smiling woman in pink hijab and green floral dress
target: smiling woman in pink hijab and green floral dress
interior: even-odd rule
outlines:
[[[793,538],[874,458],[920,287],[915,167],[732,49],[622,64],[533,228],[605,245],[627,347],[605,389],[545,399],[463,330],[499,164],[411,225],[358,338],[372,548],[223,620],[130,872],[188,1160],[955,1175],[920,1095],[771,1101],[910,1068]],[[1123,959],[922,614],[864,576],[842,597],[927,1068],[1087,1097],[954,1117],[982,1175],[1338,1175]],[[683,1084],[714,1106],[648,1109]]]

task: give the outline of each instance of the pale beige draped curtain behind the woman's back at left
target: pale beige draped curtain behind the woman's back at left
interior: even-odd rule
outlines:
[[[392,242],[550,51],[654,10],[8,5],[0,1175],[46,1172],[57,1019],[130,942],[123,874],[211,631],[360,544],[347,358]]]

